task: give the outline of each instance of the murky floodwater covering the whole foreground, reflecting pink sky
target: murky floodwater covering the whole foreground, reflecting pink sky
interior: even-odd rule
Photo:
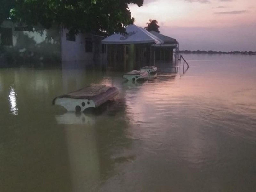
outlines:
[[[256,56],[184,58],[184,75],[162,64],[135,84],[111,71],[0,69],[0,191],[255,191]],[[86,114],[52,106],[89,84],[120,94]]]

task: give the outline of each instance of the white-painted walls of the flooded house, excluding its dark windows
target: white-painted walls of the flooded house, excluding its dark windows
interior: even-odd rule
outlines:
[[[77,63],[80,63],[81,67],[87,64],[95,65],[96,63],[101,63],[101,61],[104,60],[104,57],[106,57],[106,54],[101,55],[99,36],[78,34],[76,35],[76,41],[67,41],[67,29],[60,29],[60,31],[58,29],[51,29],[48,31],[54,33],[58,38],[56,40],[48,40],[46,39],[47,30],[44,30],[42,34],[39,34],[30,31],[15,31],[15,26],[16,25],[9,20],[4,21],[0,25],[0,27],[3,28],[12,28],[13,32],[13,45],[4,47],[8,52],[16,51],[21,57],[33,58],[34,60],[41,60],[41,58],[55,58],[54,60],[68,62],[67,64],[70,65],[70,67]],[[93,51],[90,53],[85,52],[86,38],[91,38],[93,41]],[[1,58],[0,55],[0,59]],[[76,62],[76,64],[71,64],[69,62]]]

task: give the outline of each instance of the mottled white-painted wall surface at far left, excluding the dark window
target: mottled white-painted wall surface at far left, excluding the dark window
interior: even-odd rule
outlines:
[[[19,26],[9,20],[2,22],[0,27],[12,29],[12,45],[0,46],[5,52],[9,52],[9,57],[12,57],[13,60],[17,62],[20,60],[52,60],[54,62],[60,62],[61,47],[60,32],[58,29],[43,30],[42,33],[15,31],[15,27]],[[48,32],[54,36],[54,40],[46,38]]]

